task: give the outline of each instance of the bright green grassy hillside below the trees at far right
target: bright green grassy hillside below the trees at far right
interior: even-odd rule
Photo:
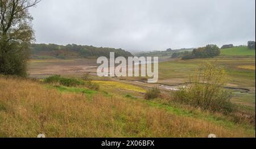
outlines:
[[[225,56],[255,56],[255,50],[247,46],[236,46],[234,48],[221,49],[221,55]]]

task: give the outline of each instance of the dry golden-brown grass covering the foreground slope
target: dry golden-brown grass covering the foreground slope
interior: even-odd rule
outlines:
[[[254,137],[241,127],[176,116],[137,100],[60,93],[0,76],[0,137]]]

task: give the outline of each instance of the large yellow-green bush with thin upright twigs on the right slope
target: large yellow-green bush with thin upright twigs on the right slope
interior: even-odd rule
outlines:
[[[224,69],[207,63],[191,77],[191,85],[180,88],[173,97],[176,101],[196,108],[230,113],[234,107],[230,102],[231,93],[224,90],[226,80]]]

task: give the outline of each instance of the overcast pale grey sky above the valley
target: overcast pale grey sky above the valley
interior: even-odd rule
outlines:
[[[36,42],[166,50],[255,40],[255,0],[42,0]]]

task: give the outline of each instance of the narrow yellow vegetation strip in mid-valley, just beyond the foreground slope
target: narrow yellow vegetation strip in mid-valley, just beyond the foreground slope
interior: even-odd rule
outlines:
[[[146,92],[146,90],[144,90],[141,87],[134,86],[132,84],[122,83],[122,82],[103,81],[103,80],[97,80],[93,82],[98,83],[100,84],[100,86],[105,86],[105,87],[113,87],[113,88],[135,91],[135,92]]]

